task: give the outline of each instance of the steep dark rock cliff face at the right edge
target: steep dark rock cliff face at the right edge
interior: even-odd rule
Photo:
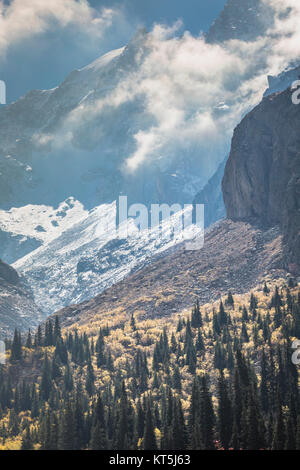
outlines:
[[[270,95],[236,128],[225,168],[227,216],[280,224],[286,264],[300,269],[300,106],[291,90]]]

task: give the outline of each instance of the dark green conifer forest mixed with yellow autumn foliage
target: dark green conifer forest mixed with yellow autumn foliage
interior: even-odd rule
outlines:
[[[16,330],[0,448],[299,450],[299,337],[293,279],[168,320],[114,318],[94,333],[55,316]]]

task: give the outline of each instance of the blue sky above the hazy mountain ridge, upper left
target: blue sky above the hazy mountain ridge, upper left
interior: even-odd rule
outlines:
[[[27,1],[5,1],[13,10],[2,17],[6,25],[3,23],[4,27],[1,28],[0,24],[3,37],[5,27],[8,31],[2,41],[5,48],[0,48],[0,80],[7,84],[8,102],[31,89],[56,86],[73,69],[83,67],[101,54],[127,43],[139,26],[149,30],[153,23],[171,25],[181,19],[185,30],[198,35],[209,28],[226,3],[225,0],[123,0],[121,3],[119,0],[90,0],[90,6],[97,12],[103,11],[103,8],[114,12],[111,24],[104,27],[101,23],[103,33],[98,35],[95,28],[87,33],[84,22],[80,24],[80,12],[74,12],[72,20],[65,26],[68,8],[66,11],[60,11],[60,8],[55,10],[56,1],[60,1],[59,6],[66,3],[69,7],[69,4],[76,4],[76,0],[40,0],[43,7],[50,5],[50,8],[52,5],[55,14],[52,11],[45,13],[41,9],[33,11],[32,34],[24,34],[22,27],[26,28],[22,9]],[[48,19],[40,32],[37,23],[41,15],[48,15]],[[86,25],[88,28],[88,19]]]

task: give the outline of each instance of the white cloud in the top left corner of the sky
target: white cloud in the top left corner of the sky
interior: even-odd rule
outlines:
[[[86,0],[12,0],[9,5],[0,0],[0,54],[20,41],[72,25],[101,36],[115,15],[113,9],[91,8]]]

